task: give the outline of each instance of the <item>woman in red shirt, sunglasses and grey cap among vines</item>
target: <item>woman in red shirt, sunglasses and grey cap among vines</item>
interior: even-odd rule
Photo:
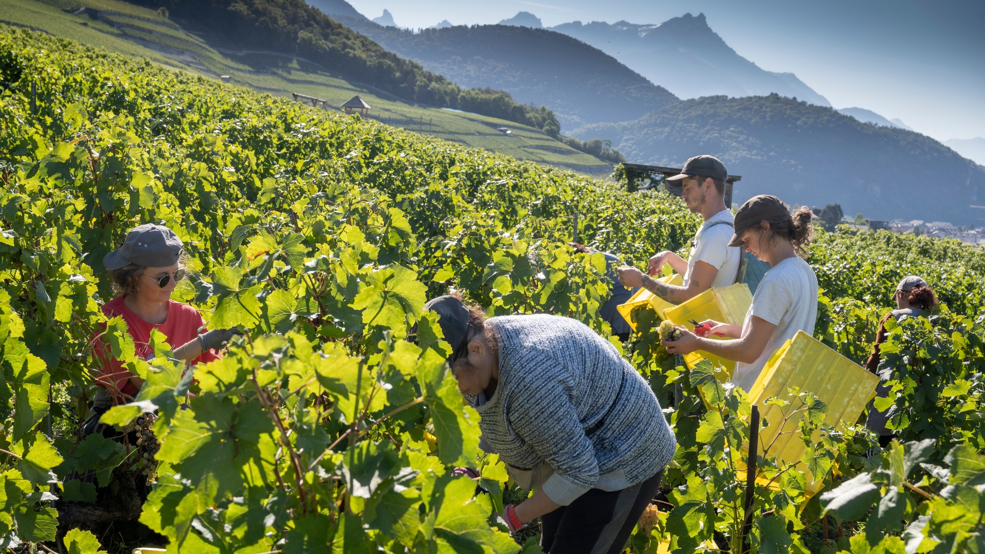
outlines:
[[[123,316],[137,356],[143,360],[154,357],[152,329],[164,333],[176,359],[191,364],[220,359],[218,350],[233,334],[230,329],[200,334],[205,325],[202,315],[186,304],[170,300],[174,287],[185,276],[187,254],[183,246],[170,229],[146,224],[130,231],[122,246],[102,258],[118,294],[102,305],[102,312],[107,317]],[[94,341],[93,358],[100,364],[96,382],[102,388],[84,426],[86,434],[97,431],[102,413],[114,403],[132,400],[144,383],[122,369],[122,363],[112,358],[108,345],[99,337]]]

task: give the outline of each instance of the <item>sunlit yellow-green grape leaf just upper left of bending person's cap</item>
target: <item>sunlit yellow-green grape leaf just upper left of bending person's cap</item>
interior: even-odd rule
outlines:
[[[352,307],[362,311],[366,324],[402,329],[406,321],[414,323],[421,316],[427,285],[418,274],[402,265],[391,265],[370,273],[360,283],[360,294]]]

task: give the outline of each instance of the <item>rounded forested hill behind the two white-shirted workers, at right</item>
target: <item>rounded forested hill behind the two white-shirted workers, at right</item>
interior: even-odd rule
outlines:
[[[985,199],[985,168],[926,135],[775,95],[688,100],[572,134],[612,137],[639,164],[681,167],[697,154],[717,156],[743,175],[739,203],[776,194],[791,203],[840,203],[872,219],[967,225],[981,217],[968,206]]]

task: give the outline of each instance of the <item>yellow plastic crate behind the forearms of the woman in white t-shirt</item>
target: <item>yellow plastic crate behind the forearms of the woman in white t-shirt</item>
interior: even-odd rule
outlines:
[[[749,292],[749,285],[738,283],[729,287],[716,289],[714,287],[704,291],[687,302],[679,306],[669,308],[664,311],[665,319],[670,319],[675,325],[680,325],[687,329],[692,329],[694,325],[690,322],[714,319],[731,325],[742,325],[746,318],[746,312],[753,304],[753,295]],[[728,337],[712,335],[710,338],[716,340],[728,340]],[[739,337],[732,337],[739,338]],[[701,360],[708,360],[713,366],[721,367],[721,372],[716,372],[719,381],[727,381],[732,378],[732,373],[736,369],[736,363],[732,360],[719,358],[713,354],[697,350],[684,355],[684,361],[689,369]]]

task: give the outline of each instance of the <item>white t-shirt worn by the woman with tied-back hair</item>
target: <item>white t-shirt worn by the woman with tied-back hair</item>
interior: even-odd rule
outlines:
[[[732,382],[749,391],[762,372],[766,361],[797,331],[814,335],[818,318],[818,278],[806,261],[799,257],[787,259],[770,268],[755,289],[753,305],[746,312],[743,335],[749,330],[753,315],[776,325],[762,354],[752,364],[736,364]]]

